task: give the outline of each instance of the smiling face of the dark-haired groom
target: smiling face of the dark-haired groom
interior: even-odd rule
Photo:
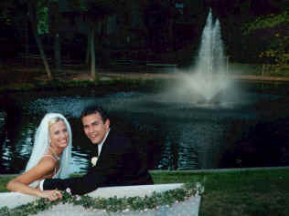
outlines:
[[[84,133],[91,139],[92,144],[100,144],[110,127],[110,120],[102,121],[99,113],[91,114],[82,118]]]

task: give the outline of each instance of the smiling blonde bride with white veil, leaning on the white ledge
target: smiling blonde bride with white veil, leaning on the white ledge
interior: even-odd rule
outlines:
[[[70,123],[58,113],[48,113],[41,120],[26,170],[10,180],[6,188],[27,195],[56,201],[62,198],[59,190],[39,189],[39,181],[48,178],[67,178],[69,173],[72,135]]]

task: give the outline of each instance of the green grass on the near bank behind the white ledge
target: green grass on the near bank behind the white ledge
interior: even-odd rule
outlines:
[[[289,215],[289,170],[151,171],[155,184],[205,185],[199,216]],[[0,177],[0,191],[13,178]]]

